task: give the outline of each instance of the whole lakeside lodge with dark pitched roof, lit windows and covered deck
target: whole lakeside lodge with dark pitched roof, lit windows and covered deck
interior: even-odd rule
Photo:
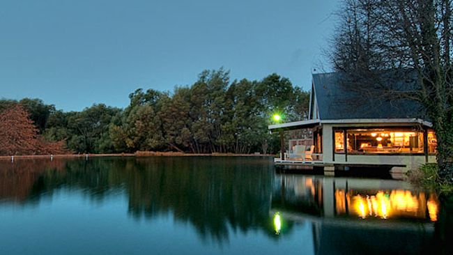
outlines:
[[[405,89],[416,80],[393,82]],[[358,91],[345,86],[337,72],[314,74],[308,119],[268,127],[280,133],[275,164],[322,167],[325,173],[354,167],[404,173],[436,162],[436,135],[417,102],[367,98]]]

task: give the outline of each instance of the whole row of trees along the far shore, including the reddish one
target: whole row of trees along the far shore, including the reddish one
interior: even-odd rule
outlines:
[[[205,70],[173,93],[140,88],[129,98],[125,109],[98,104],[69,112],[40,99],[0,100],[0,155],[275,153],[278,137],[267,129],[272,115],[302,120],[309,105],[309,93],[289,79],[272,74],[231,82],[223,69]],[[21,117],[21,109],[28,114]],[[29,118],[29,125],[21,118]]]

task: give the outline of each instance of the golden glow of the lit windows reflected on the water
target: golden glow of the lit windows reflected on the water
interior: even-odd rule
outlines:
[[[416,217],[424,219],[427,217],[428,211],[429,219],[432,222],[437,220],[439,203],[434,194],[431,194],[427,201],[424,192],[379,190],[374,194],[369,193],[335,190],[337,214],[349,212],[349,214],[357,215],[362,219],[367,217],[380,217],[381,219]]]

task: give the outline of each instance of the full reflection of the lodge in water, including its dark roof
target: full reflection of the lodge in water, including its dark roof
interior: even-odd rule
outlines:
[[[271,214],[311,222],[316,254],[412,254],[432,245],[435,194],[397,180],[277,176]]]

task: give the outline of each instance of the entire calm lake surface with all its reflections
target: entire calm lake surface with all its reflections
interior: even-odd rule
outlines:
[[[448,253],[451,200],[264,157],[4,161],[0,254]]]

